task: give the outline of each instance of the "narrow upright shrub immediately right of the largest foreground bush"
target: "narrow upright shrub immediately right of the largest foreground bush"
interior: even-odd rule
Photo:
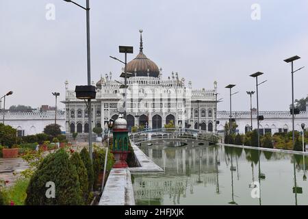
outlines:
[[[70,163],[72,163],[76,170],[80,184],[81,196],[84,200],[84,204],[88,204],[89,185],[88,185],[88,173],[84,162],[81,160],[79,153],[73,153],[70,157]]]

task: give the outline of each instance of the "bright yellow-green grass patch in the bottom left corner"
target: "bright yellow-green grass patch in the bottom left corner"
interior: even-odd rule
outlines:
[[[13,201],[14,205],[25,205],[25,198],[27,197],[26,190],[29,185],[29,179],[17,179],[15,184],[5,189],[3,192],[8,200],[8,204]]]

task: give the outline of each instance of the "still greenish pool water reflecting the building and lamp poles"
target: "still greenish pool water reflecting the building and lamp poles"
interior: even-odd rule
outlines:
[[[133,175],[136,205],[308,205],[307,156],[163,142],[140,149],[165,172]]]

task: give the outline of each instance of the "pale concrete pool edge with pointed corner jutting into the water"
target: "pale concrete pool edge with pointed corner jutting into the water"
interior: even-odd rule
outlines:
[[[162,168],[146,156],[133,142],[131,142],[131,146],[140,166],[133,168],[112,168],[99,205],[135,205],[131,172],[164,172]]]

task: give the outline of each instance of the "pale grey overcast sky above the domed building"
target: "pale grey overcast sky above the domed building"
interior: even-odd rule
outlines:
[[[85,5],[86,1],[76,0]],[[47,20],[46,5],[55,5],[55,20]],[[261,7],[260,20],[251,18],[251,5]],[[138,53],[143,29],[144,53],[163,68],[163,77],[178,72],[193,88],[213,88],[224,98],[219,110],[229,109],[235,83],[234,110],[248,110],[246,90],[255,90],[248,75],[259,80],[260,110],[287,110],[291,103],[291,66],[283,60],[302,57],[294,68],[295,98],[308,94],[308,1],[281,0],[90,0],[92,80],[123,67],[109,55],[118,45]],[[62,0],[0,1],[0,94],[13,90],[10,105],[54,105],[51,92],[64,99],[70,89],[86,84],[86,12]],[[254,96],[255,97],[255,96]],[[255,105],[255,99],[254,99]],[[64,107],[61,103],[60,107]]]

